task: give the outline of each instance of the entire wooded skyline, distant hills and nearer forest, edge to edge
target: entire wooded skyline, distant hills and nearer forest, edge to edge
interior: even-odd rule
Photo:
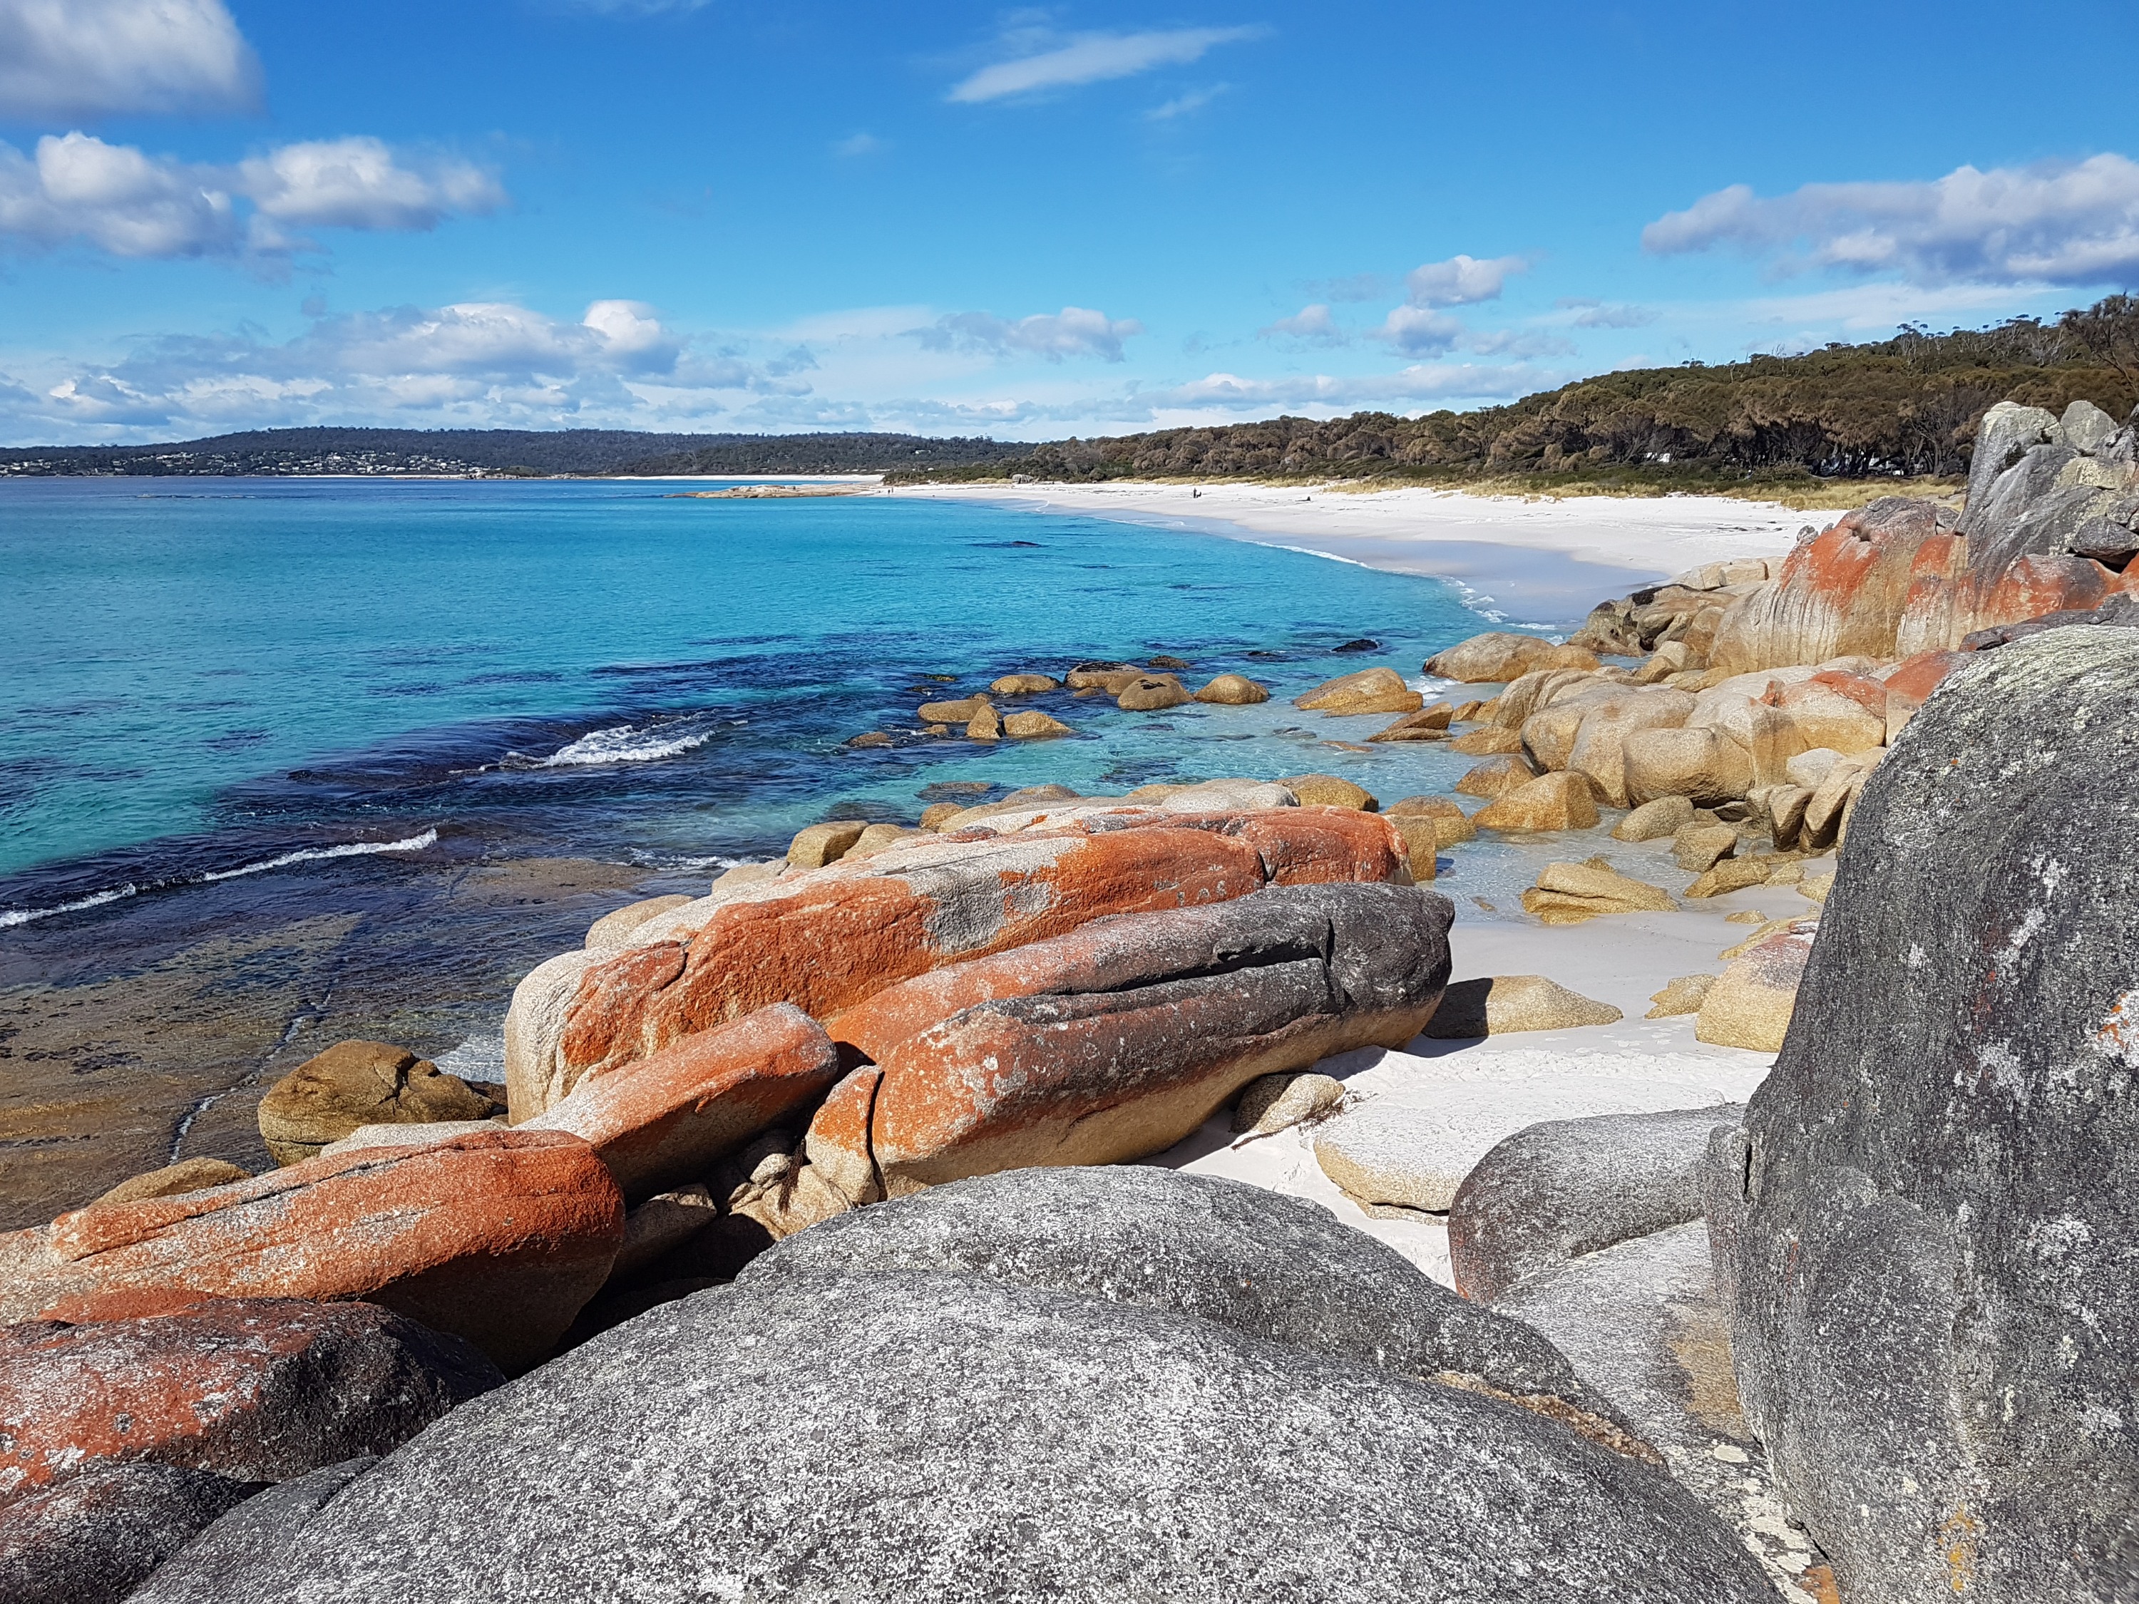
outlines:
[[[2139,297],[2056,323],[1829,344],[1795,357],[1641,368],[1474,413],[1354,413],[1020,445],[920,434],[633,430],[257,430],[173,445],[0,449],[6,475],[661,475],[881,473],[894,483],[1057,479],[1482,479],[1698,488],[1953,477],[2002,400],[2113,417],[2139,404]]]

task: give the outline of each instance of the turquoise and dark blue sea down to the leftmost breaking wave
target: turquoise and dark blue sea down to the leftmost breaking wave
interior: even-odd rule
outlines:
[[[945,783],[1322,770],[1401,796],[1461,770],[1330,749],[1382,721],[1283,701],[1476,631],[1440,582],[1070,515],[670,490],[0,481],[0,922],[387,843],[710,868],[828,813],[913,819]],[[1333,654],[1360,635],[1382,648]],[[924,693],[1153,652],[1279,699],[1061,693],[1031,706],[1072,740],[843,746],[913,731]]]

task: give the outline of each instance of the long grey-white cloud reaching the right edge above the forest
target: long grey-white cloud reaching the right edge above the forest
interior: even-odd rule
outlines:
[[[1705,195],[1641,233],[1658,255],[1737,246],[1784,272],[1891,272],[1912,284],[2139,284],[2139,163],[2103,154],[1957,167],[1932,182]]]

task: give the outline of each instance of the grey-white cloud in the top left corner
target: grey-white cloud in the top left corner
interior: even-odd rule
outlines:
[[[0,118],[229,111],[259,64],[222,0],[0,0]]]

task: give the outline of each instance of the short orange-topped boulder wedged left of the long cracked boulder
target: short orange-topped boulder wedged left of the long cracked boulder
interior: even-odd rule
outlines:
[[[584,1076],[520,1129],[586,1140],[625,1200],[642,1202],[706,1174],[836,1080],[832,1039],[794,1003],[774,1003]]]

